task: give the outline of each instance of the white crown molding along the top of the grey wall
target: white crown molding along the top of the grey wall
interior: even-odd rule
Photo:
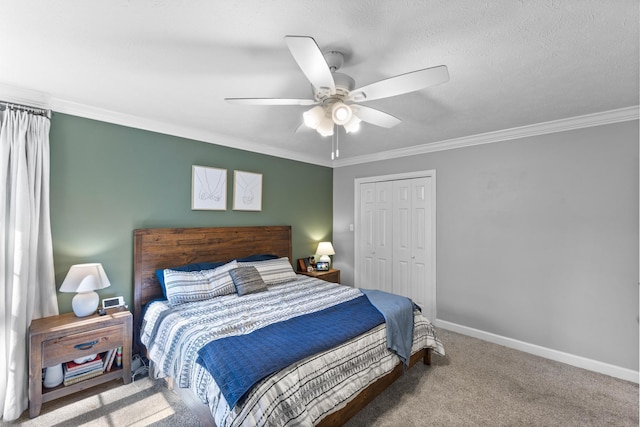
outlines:
[[[600,113],[586,114],[584,116],[570,117],[567,119],[553,120],[550,122],[503,129],[495,132],[481,133],[448,139],[438,142],[430,142],[396,150],[382,151],[379,153],[339,159],[333,162],[333,167],[351,166],[362,163],[370,163],[381,160],[389,160],[399,157],[415,156],[419,154],[434,153],[437,151],[453,150],[456,148],[472,147],[475,145],[490,144],[493,142],[510,141],[527,138],[530,136],[563,132],[574,129],[583,129],[593,126],[602,126],[612,123],[638,120],[640,107],[638,105],[609,110]]]

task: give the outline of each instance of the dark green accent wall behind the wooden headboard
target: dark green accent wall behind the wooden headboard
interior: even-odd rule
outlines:
[[[291,225],[293,258],[330,240],[331,168],[54,113],[51,227],[56,288],[73,264],[101,262],[101,298],[133,302],[133,230]],[[227,170],[227,210],[191,210],[192,165]],[[232,210],[233,171],[262,174],[262,211]],[[61,313],[74,294],[58,293]]]

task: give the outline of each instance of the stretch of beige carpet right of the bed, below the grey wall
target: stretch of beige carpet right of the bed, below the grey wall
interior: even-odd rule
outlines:
[[[438,332],[447,356],[414,366],[347,426],[638,426],[637,384]]]

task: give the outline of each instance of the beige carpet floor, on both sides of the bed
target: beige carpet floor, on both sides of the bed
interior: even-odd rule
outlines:
[[[638,385],[440,330],[447,356],[418,364],[347,426],[638,426]],[[197,426],[162,382],[113,381],[15,423]]]

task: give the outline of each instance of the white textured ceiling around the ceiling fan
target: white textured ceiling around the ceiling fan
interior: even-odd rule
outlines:
[[[638,105],[637,0],[3,0],[0,99],[339,166]],[[447,65],[450,81],[367,105],[403,122],[295,133],[310,97],[285,35],[345,54],[356,86]],[[634,111],[637,111],[634,110]],[[345,163],[346,162],[346,163]]]

